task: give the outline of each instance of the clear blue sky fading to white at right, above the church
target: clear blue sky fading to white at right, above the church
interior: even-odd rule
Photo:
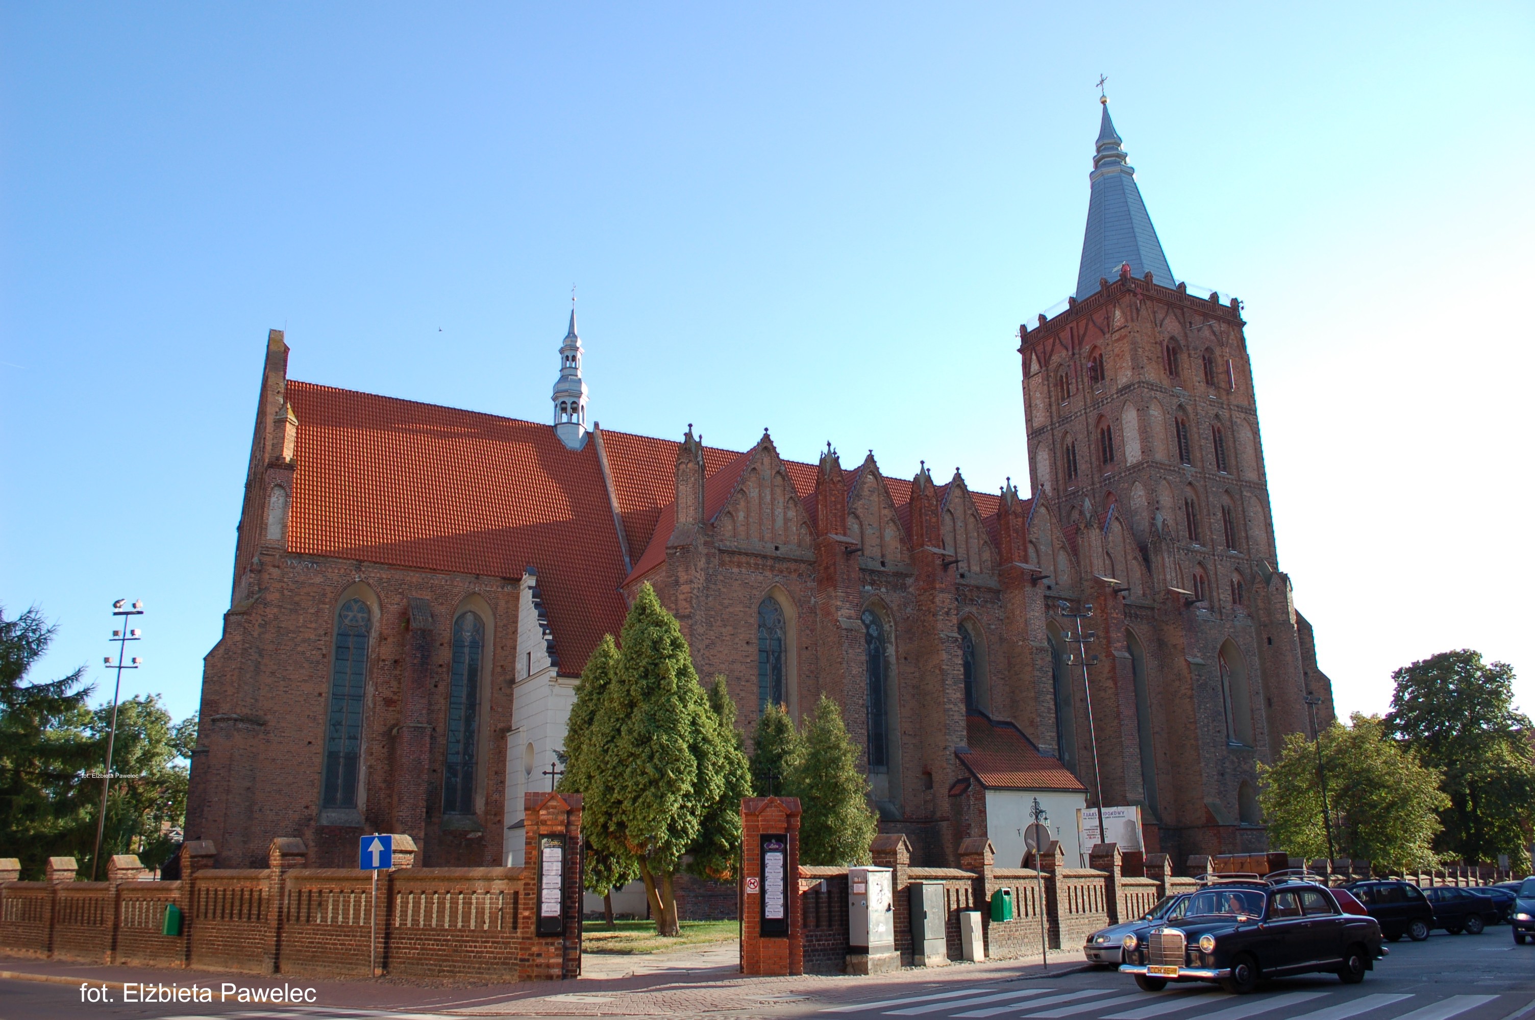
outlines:
[[[1107,74],[1174,273],[1246,302],[1343,709],[1471,646],[1535,710],[1532,8],[0,6],[0,601],[196,707],[269,327],[298,379],[887,474],[1027,475]],[[94,666],[91,678],[106,675]]]

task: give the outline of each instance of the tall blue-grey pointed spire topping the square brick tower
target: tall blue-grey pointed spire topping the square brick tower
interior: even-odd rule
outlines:
[[[1136,187],[1136,172],[1125,163],[1124,141],[1108,118],[1108,100],[1098,129],[1098,152],[1093,156],[1093,196],[1087,204],[1087,235],[1082,238],[1082,267],[1076,273],[1076,299],[1098,290],[1101,278],[1119,279],[1119,267],[1130,262],[1134,276],[1151,278],[1173,287],[1173,270],[1167,265],[1162,242],[1147,215]]]

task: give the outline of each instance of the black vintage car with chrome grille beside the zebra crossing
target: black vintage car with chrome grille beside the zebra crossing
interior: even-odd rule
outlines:
[[[1125,936],[1119,969],[1134,974],[1145,991],[1168,982],[1219,982],[1243,994],[1259,979],[1315,971],[1354,985],[1386,953],[1380,923],[1345,914],[1326,888],[1243,880],[1199,890],[1176,925]]]

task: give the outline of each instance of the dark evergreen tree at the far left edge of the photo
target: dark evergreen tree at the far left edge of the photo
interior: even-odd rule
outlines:
[[[84,669],[26,683],[54,632],[35,607],[11,620],[0,607],[0,847],[28,877],[95,821],[83,779],[97,759]]]

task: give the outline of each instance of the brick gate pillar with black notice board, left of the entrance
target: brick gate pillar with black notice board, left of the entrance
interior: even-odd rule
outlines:
[[[517,925],[533,933],[520,980],[560,980],[580,977],[580,903],[583,876],[579,793],[522,795],[525,836],[522,905]],[[560,868],[553,883],[553,867]],[[545,890],[545,879],[551,879]],[[546,917],[546,893],[560,896],[557,922]]]

